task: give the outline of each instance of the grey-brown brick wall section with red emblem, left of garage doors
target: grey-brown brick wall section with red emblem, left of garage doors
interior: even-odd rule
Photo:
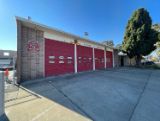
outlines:
[[[20,81],[44,77],[43,32],[21,26],[19,45]]]

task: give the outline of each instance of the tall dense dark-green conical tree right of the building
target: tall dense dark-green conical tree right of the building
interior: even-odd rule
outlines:
[[[136,58],[137,65],[141,57],[148,55],[155,49],[154,44],[158,38],[158,32],[152,29],[152,20],[144,8],[136,10],[128,21],[122,50],[132,58]]]

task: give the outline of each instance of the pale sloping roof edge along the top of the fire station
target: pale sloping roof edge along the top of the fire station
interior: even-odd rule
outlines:
[[[104,45],[102,43],[99,43],[99,42],[95,42],[93,40],[90,40],[90,39],[86,39],[84,37],[80,37],[78,35],[74,35],[74,34],[71,34],[69,32],[65,32],[63,30],[60,30],[60,29],[57,29],[57,28],[54,28],[54,27],[50,27],[50,26],[47,26],[47,25],[44,25],[44,24],[41,24],[41,23],[38,23],[38,22],[35,22],[35,21],[32,21],[32,20],[28,20],[26,18],[22,18],[22,17],[19,17],[19,16],[15,16],[16,18],[16,21],[20,21],[20,22],[24,22],[24,23],[28,23],[28,24],[31,24],[31,25],[36,25],[38,27],[42,27],[44,29],[47,29],[47,30],[51,30],[51,31],[56,31],[56,32],[59,32],[59,33],[62,33],[62,34],[65,34],[65,35],[68,35],[68,36],[72,36],[74,37],[75,39],[80,39],[80,40],[84,40],[86,42],[90,42],[90,43],[93,43],[93,44],[97,44],[97,45],[100,45],[100,46],[106,46],[108,48],[111,48],[111,49],[114,49],[114,47],[110,47],[110,46],[107,46],[107,45]]]

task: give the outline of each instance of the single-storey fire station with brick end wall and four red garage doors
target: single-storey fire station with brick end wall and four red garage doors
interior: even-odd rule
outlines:
[[[114,66],[113,48],[16,17],[18,81]]]

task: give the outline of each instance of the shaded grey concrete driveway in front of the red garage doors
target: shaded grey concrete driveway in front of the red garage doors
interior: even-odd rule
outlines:
[[[102,70],[22,85],[94,121],[160,120],[159,70]]]

